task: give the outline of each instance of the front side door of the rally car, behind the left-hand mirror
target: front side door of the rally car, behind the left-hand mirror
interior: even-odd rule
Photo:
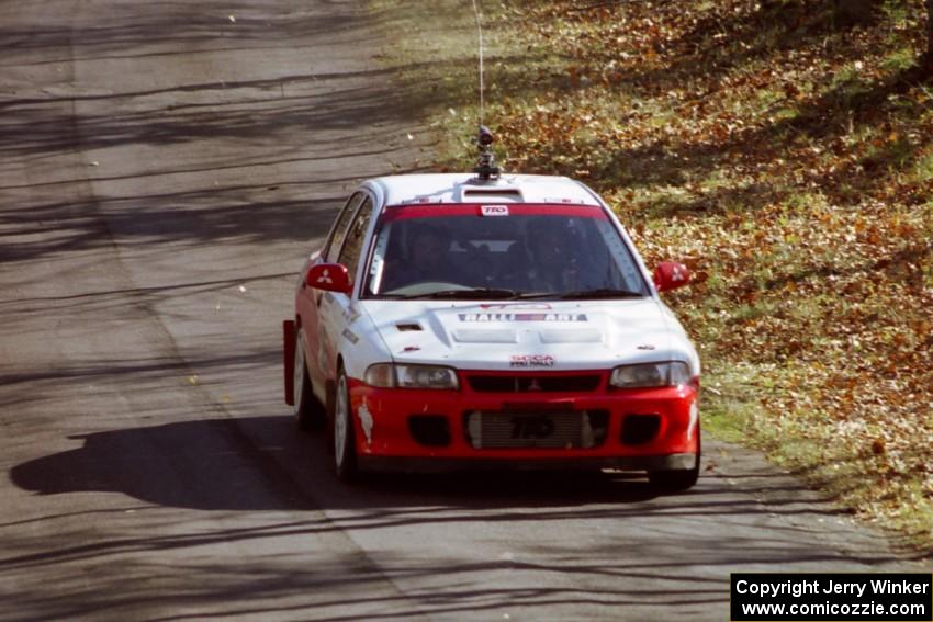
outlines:
[[[321,318],[321,348],[319,364],[326,370],[328,378],[337,376],[337,355],[339,353],[340,340],[345,338],[345,329],[358,317],[356,308],[358,279],[360,262],[366,255],[369,240],[370,222],[372,220],[373,200],[367,195],[362,205],[353,216],[347,229],[337,263],[347,267],[347,272],[352,279],[353,290],[350,295],[339,292],[323,292],[318,316]]]

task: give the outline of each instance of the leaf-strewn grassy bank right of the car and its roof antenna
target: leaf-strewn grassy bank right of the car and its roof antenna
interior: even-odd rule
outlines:
[[[708,412],[929,534],[924,1],[845,27],[818,0],[503,4],[487,121],[506,169],[585,180],[649,264],[694,269],[670,302],[701,344]]]

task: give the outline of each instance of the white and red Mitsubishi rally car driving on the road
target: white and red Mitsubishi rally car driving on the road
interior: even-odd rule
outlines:
[[[361,468],[699,473],[696,350],[611,210],[566,178],[363,183],[304,263],[285,400]]]

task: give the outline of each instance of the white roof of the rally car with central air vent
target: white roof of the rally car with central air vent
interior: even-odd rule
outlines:
[[[563,203],[603,205],[595,192],[566,177],[503,174],[480,180],[470,173],[398,174],[363,183],[382,205],[412,203]]]

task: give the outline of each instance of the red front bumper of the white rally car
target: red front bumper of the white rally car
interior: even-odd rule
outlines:
[[[405,468],[434,461],[466,465],[525,463],[531,467],[574,462],[638,470],[687,467],[681,465],[689,464],[699,449],[698,382],[679,387],[616,389],[608,386],[608,371],[585,372],[599,377],[598,384],[593,378],[595,386],[583,391],[566,391],[560,382],[553,382],[581,374],[584,372],[459,372],[459,391],[375,388],[351,382],[358,455],[362,464],[391,466],[396,462]],[[475,376],[508,378],[506,384],[514,378],[514,389],[498,391],[508,388],[502,382],[486,382],[477,389],[480,383],[472,382]],[[506,428],[505,434],[521,437],[527,432],[525,418],[538,411],[591,414],[587,417],[600,426],[597,442],[561,448],[490,448],[482,446],[482,442],[476,446],[477,441],[471,438],[468,421],[475,412],[494,417],[514,414],[515,429],[509,432]],[[434,429],[438,423],[446,426],[446,438],[434,434],[427,443],[424,438],[416,438],[424,434],[416,433],[413,421],[426,419],[431,420]],[[641,426],[644,421],[651,423],[648,429]],[[637,423],[642,429],[632,433]]]

